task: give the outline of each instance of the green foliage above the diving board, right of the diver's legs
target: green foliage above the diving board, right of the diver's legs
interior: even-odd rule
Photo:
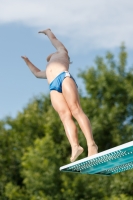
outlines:
[[[121,46],[118,65],[108,52],[105,59],[97,57],[96,66],[80,74],[87,92],[84,110],[100,151],[133,138],[133,71],[126,68],[126,58],[125,47]]]

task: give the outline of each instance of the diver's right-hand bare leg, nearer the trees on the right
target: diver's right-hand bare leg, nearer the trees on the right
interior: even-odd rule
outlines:
[[[71,78],[67,77],[63,81],[63,95],[72,115],[78,121],[78,124],[85,135],[88,145],[88,156],[96,154],[98,152],[98,147],[93,139],[90,121],[80,106],[77,88]],[[70,96],[71,98],[69,98]]]

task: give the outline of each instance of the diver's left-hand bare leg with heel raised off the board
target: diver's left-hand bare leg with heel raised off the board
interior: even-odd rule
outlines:
[[[62,93],[58,93],[57,91],[52,91],[50,93],[50,96],[52,105],[60,116],[60,119],[64,125],[66,135],[71,145],[72,154],[70,161],[74,162],[77,159],[77,157],[83,152],[83,148],[79,145],[78,142],[76,125],[72,120],[72,114],[68,108],[68,105]]]

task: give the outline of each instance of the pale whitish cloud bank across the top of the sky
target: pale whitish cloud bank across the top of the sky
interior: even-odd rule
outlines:
[[[0,0],[0,24],[50,27],[76,48],[133,48],[132,0]]]

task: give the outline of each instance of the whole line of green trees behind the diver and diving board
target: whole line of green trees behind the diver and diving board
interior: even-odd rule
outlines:
[[[133,139],[133,68],[122,45],[117,61],[107,52],[80,72],[80,94],[103,151]],[[77,124],[78,127],[78,124]],[[78,127],[80,144],[86,141]],[[0,200],[132,200],[133,170],[110,177],[63,173],[71,149],[49,96],[33,98],[15,119],[0,121]]]

